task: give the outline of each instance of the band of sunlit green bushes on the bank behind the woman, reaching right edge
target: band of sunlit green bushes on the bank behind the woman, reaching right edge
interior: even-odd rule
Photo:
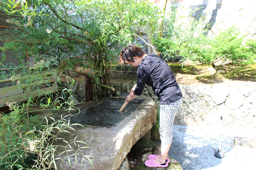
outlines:
[[[181,56],[202,64],[212,64],[216,59],[233,63],[252,63],[256,59],[256,41],[248,40],[232,26],[216,37],[207,36],[200,20],[180,15],[174,8],[164,19],[163,37],[155,37],[153,44],[168,61],[170,57]]]

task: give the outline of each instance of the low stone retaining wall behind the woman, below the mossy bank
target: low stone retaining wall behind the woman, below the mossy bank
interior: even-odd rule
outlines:
[[[110,96],[129,93],[135,83],[112,83],[115,91]],[[225,81],[217,84],[179,85],[183,102],[174,124],[213,126],[219,125],[222,116],[226,127],[256,128],[256,82]],[[84,99],[84,87],[84,81],[76,82],[75,86],[70,87],[78,101]],[[150,96],[159,107],[159,101],[151,87],[146,86],[142,95]]]

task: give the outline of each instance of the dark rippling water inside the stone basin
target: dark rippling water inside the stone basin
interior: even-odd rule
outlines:
[[[128,103],[122,112],[118,112],[124,104],[124,99],[105,99],[81,110],[75,117],[70,118],[70,122],[82,125],[112,127],[121,122],[141,103],[142,100],[134,99]]]

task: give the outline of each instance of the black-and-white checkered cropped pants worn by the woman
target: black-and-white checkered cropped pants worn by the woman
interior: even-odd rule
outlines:
[[[168,105],[160,105],[160,139],[163,144],[171,144],[172,143],[172,127],[173,121],[176,115],[177,110],[181,105],[181,100],[177,100]]]

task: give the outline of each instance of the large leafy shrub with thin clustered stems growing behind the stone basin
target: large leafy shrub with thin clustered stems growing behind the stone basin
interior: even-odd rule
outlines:
[[[134,43],[139,28],[155,30],[158,19],[156,7],[136,0],[34,0],[30,8],[42,11],[41,15],[13,19],[22,30],[11,29],[11,35],[2,38],[3,48],[21,60],[27,51],[29,57],[56,56],[92,68],[96,73],[90,76],[106,86],[122,46]],[[94,90],[96,98],[108,96],[108,89],[95,86]]]

